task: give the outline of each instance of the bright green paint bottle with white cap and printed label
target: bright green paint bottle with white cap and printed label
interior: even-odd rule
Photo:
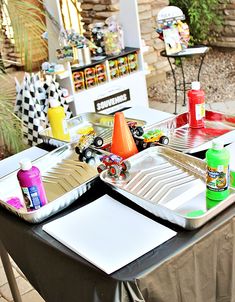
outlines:
[[[229,151],[220,140],[212,141],[206,152],[206,197],[223,200],[229,195]]]

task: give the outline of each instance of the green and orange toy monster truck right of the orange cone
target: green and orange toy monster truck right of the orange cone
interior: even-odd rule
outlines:
[[[162,145],[169,144],[169,138],[159,129],[149,130],[143,134],[142,148],[156,146],[158,143]]]

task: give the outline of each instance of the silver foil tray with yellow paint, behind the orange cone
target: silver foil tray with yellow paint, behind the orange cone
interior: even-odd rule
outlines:
[[[146,124],[143,120],[136,120],[132,118],[126,118],[126,121],[135,121],[139,126]],[[75,142],[79,139],[78,131],[86,126],[92,126],[97,135],[101,136],[104,140],[104,145],[110,144],[112,139],[114,116],[108,114],[101,114],[95,112],[82,113],[76,117],[73,117],[67,121],[68,130],[70,133],[70,142]],[[51,128],[46,128],[41,131],[40,137],[44,143],[59,147],[66,143],[59,139],[55,139],[52,135]]]

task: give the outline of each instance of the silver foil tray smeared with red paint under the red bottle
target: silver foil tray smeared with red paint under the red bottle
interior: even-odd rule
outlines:
[[[165,119],[146,130],[162,129],[169,137],[168,147],[183,153],[195,153],[211,147],[211,141],[221,137],[225,144],[235,141],[235,116],[206,111],[205,128],[192,129],[188,113]]]

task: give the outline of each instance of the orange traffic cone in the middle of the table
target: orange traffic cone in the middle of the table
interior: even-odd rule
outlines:
[[[114,115],[111,152],[124,159],[138,153],[123,112],[117,112]]]

